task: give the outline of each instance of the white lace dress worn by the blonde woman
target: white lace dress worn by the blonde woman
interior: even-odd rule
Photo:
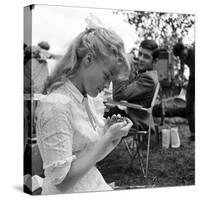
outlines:
[[[90,123],[83,99],[79,90],[67,81],[37,107],[36,132],[45,170],[42,194],[61,193],[56,184],[65,178],[77,155],[100,137],[100,131],[95,131]],[[106,190],[112,188],[94,166],[66,193]]]

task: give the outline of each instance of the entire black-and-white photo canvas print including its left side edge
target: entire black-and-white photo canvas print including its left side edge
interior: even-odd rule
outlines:
[[[195,14],[23,9],[24,192],[194,186]]]

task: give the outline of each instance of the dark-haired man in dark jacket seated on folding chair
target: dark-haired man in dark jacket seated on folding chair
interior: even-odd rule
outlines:
[[[158,56],[159,48],[154,40],[142,41],[139,47],[136,76],[131,74],[128,81],[113,82],[113,100],[124,100],[149,107],[158,83],[157,71],[154,70]],[[110,115],[117,113],[127,116],[125,112],[118,108],[111,108]],[[147,112],[128,108],[127,114],[133,121],[135,129],[146,130],[148,128]],[[154,124],[152,124],[152,129],[154,130]]]

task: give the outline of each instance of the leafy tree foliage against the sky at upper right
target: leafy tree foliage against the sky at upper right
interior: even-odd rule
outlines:
[[[182,38],[189,37],[190,43],[194,42],[191,33],[193,31],[194,35],[195,16],[192,14],[123,10],[113,12],[115,15],[119,13],[134,26],[140,41],[154,39],[161,47],[169,50]]]

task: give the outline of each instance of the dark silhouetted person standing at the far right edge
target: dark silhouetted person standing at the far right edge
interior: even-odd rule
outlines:
[[[178,42],[173,47],[173,53],[190,70],[186,92],[186,112],[191,133],[189,141],[195,141],[195,44],[188,48],[183,43]]]

